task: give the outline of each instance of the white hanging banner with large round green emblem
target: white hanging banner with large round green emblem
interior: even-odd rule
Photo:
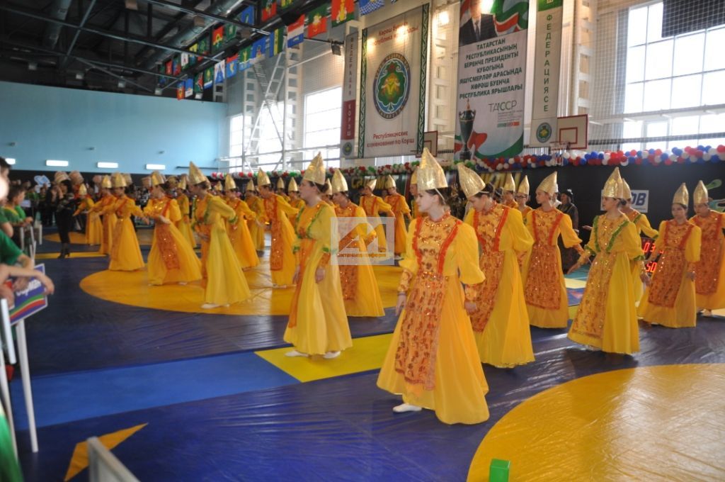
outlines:
[[[423,150],[428,4],[363,29],[357,157]]]

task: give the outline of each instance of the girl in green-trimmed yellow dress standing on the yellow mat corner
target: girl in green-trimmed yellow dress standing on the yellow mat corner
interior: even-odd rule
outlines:
[[[297,216],[294,252],[297,268],[289,322],[284,340],[294,349],[286,356],[322,355],[333,359],[352,346],[347,314],[342,301],[340,273],[331,263],[330,245],[334,209],[320,199],[325,187],[325,166],[320,154],[305,170],[299,186],[305,208]]]

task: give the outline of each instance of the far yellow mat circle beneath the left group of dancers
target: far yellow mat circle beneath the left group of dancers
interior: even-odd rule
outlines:
[[[373,269],[378,279],[383,306],[395,306],[401,269],[397,266],[373,266]],[[257,268],[244,271],[244,275],[252,291],[252,298],[211,310],[201,308],[204,303],[204,290],[199,282],[184,286],[149,286],[146,270],[99,271],[83,278],[80,288],[102,300],[142,308],[229,315],[289,314],[294,287],[273,289],[267,258],[263,258],[262,264]]]

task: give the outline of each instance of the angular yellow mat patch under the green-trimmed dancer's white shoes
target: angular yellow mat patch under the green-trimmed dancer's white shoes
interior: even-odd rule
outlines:
[[[379,369],[390,346],[392,333],[366,336],[352,340],[352,348],[343,351],[335,359],[326,360],[322,356],[284,356],[291,347],[276,350],[255,351],[254,353],[270,362],[287,375],[300,382],[311,382],[323,378],[339,377],[351,373],[367,372]]]

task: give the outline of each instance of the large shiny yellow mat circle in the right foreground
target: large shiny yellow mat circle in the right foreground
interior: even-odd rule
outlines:
[[[505,414],[468,481],[487,481],[492,458],[511,462],[511,481],[722,481],[724,413],[725,364],[581,377]]]

